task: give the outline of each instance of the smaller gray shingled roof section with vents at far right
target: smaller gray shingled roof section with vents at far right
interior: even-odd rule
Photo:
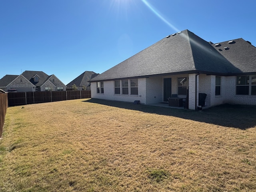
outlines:
[[[242,73],[256,73],[256,47],[242,38],[212,44]]]

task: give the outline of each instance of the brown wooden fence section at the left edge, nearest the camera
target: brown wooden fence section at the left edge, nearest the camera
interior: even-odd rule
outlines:
[[[2,132],[3,132],[4,118],[5,118],[7,108],[8,108],[7,93],[4,92],[3,90],[0,90],[0,137],[2,136]]]

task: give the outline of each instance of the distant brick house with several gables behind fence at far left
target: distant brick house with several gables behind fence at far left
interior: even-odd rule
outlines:
[[[65,91],[66,85],[55,75],[48,76],[42,71],[24,71],[20,75],[6,75],[0,79],[0,88],[4,91],[16,89],[29,91]]]

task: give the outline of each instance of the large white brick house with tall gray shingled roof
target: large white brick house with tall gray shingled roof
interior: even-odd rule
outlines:
[[[188,108],[196,110],[203,93],[206,107],[256,105],[256,48],[242,38],[213,44],[184,30],[90,82],[92,98],[106,100],[154,104],[188,93]]]

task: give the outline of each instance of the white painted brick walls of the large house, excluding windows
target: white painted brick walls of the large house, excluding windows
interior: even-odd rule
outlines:
[[[141,104],[153,104],[164,101],[164,78],[172,78],[172,94],[178,93],[177,79],[188,77],[189,84],[189,106],[194,110],[198,106],[195,105],[195,82],[196,74],[176,75],[176,76],[159,76],[138,79],[138,96],[131,95],[115,95],[114,81],[104,82],[104,94],[96,93],[96,82],[91,83],[92,98],[100,98],[106,100],[118,100],[125,102],[134,102],[140,100]],[[206,106],[216,106],[220,104],[246,104],[256,105],[256,96],[240,96],[236,95],[236,76],[221,76],[220,96],[215,96],[215,76],[200,74],[197,76],[197,93],[205,93]]]

